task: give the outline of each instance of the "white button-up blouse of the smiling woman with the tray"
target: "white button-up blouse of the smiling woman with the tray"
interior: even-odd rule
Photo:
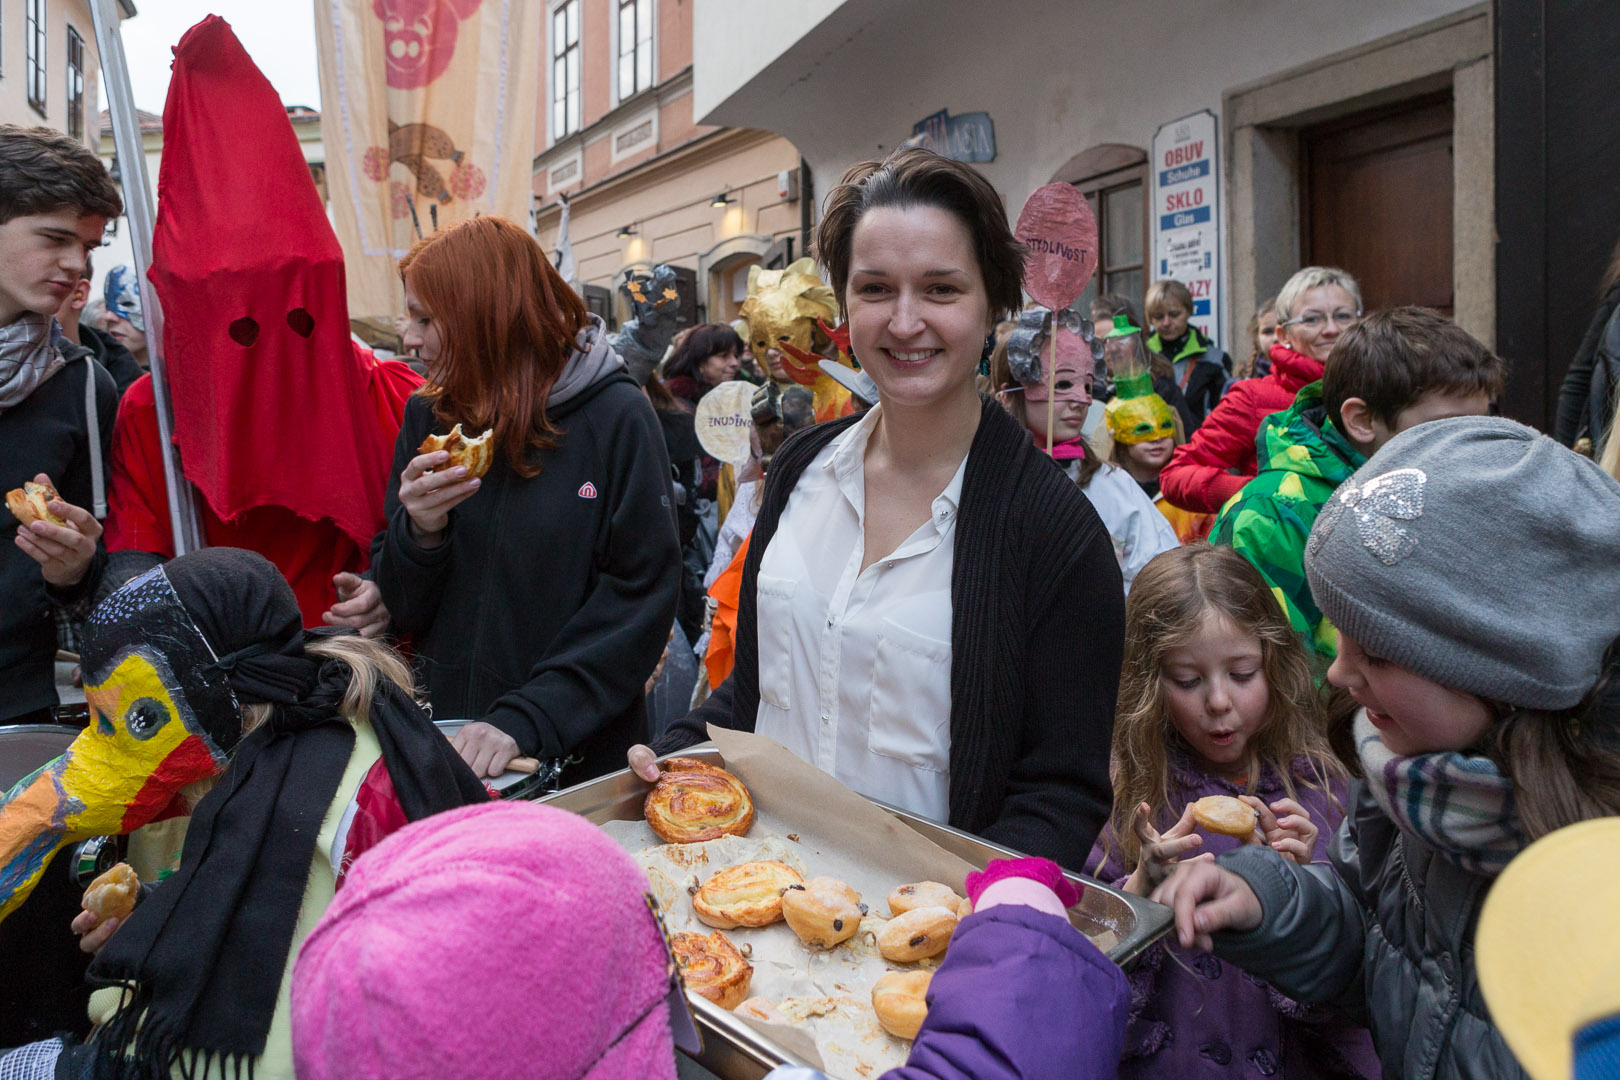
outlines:
[[[755,730],[862,795],[944,821],[951,563],[967,458],[930,520],[862,572],[865,455],[878,415],[816,453],[765,551]]]

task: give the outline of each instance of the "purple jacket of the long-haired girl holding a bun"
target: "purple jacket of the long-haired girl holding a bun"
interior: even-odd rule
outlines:
[[[1304,787],[1309,766],[1294,763],[1298,801],[1317,826],[1312,861],[1327,861],[1327,845],[1345,816],[1346,785],[1332,785],[1333,803],[1317,789]],[[1174,814],[1158,823],[1170,827],[1181,808],[1205,795],[1243,795],[1244,790],[1220,777],[1200,772],[1184,755],[1171,756],[1171,806]],[[1283,798],[1281,779],[1270,767],[1256,787],[1260,800]],[[1197,853],[1230,852],[1239,842],[1226,836],[1202,834]],[[1105,826],[1085,866],[1102,881],[1123,884],[1129,876],[1111,852],[1103,861],[1105,842],[1113,842],[1113,826]],[[1102,863],[1098,870],[1098,863]],[[1283,997],[1262,980],[1225,963],[1207,952],[1189,952],[1163,939],[1142,954],[1131,972],[1131,1027],[1126,1033],[1121,1080],[1196,1080],[1228,1077],[1285,1077],[1288,1080],[1345,1080],[1379,1075],[1379,1057],[1366,1028],[1324,1007],[1301,1006]]]

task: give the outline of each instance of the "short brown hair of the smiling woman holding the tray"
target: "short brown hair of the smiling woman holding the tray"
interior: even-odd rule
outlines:
[[[867,210],[932,206],[954,214],[974,238],[978,274],[990,296],[990,314],[1004,319],[1024,303],[1024,244],[1008,227],[1001,196],[977,170],[922,147],[894,151],[886,159],[850,165],[826,196],[815,251],[841,304],[849,288],[849,259],[855,225]]]

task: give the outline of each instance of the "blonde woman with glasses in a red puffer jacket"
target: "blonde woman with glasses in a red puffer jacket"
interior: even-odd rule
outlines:
[[[1275,306],[1272,369],[1264,379],[1234,382],[1158,474],[1165,497],[1183,510],[1217,513],[1254,479],[1260,421],[1322,377],[1333,345],[1361,321],[1361,287],[1345,270],[1307,266],[1288,279]]]

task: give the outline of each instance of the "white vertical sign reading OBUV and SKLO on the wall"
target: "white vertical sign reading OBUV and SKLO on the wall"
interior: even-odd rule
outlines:
[[[1220,159],[1215,113],[1173,120],[1153,134],[1153,274],[1192,293],[1192,325],[1221,345]]]

